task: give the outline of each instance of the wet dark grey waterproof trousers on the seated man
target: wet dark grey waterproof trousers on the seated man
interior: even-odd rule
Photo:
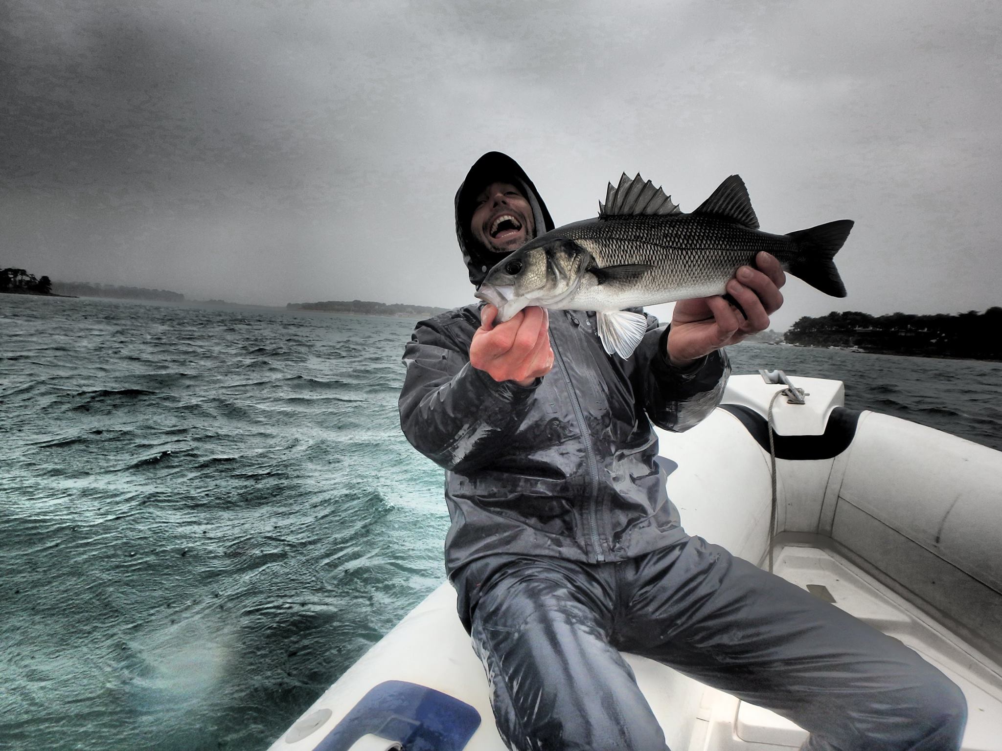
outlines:
[[[960,748],[967,705],[943,673],[697,537],[616,563],[490,557],[454,581],[511,749],[664,751],[620,651],[790,718],[805,749]]]

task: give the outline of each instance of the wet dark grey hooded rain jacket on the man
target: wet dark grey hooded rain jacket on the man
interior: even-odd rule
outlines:
[[[496,180],[524,190],[537,235],[553,228],[522,168],[485,154],[456,193],[456,234],[475,284],[503,257],[469,229],[477,192]],[[470,364],[481,304],[420,321],[404,352],[401,427],[446,470],[449,575],[494,554],[595,563],[680,540],[651,422],[684,431],[706,417],[729,372],[723,352],[680,371],[667,359],[667,327],[648,315],[646,335],[623,359],[605,352],[594,313],[554,310],[553,369],[529,387],[498,383]]]

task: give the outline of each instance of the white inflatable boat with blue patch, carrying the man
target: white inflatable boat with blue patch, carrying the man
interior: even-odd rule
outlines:
[[[1002,452],[845,406],[842,382],[731,377],[684,434],[658,430],[689,534],[900,639],[967,698],[965,751],[1002,751]],[[725,466],[710,466],[727,447]],[[789,751],[807,733],[624,655],[674,751]],[[448,583],[352,666],[271,751],[503,751]]]

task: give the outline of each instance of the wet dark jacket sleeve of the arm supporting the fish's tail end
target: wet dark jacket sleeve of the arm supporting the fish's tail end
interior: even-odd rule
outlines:
[[[647,314],[647,332],[633,352],[634,394],[658,428],[681,433],[704,420],[723,398],[730,361],[723,349],[684,369],[668,360],[668,326]]]

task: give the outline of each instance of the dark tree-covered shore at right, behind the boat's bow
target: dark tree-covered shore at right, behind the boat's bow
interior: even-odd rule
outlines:
[[[849,310],[803,317],[786,334],[792,344],[841,346],[868,352],[1002,359],[1002,307],[984,312],[887,315]]]

